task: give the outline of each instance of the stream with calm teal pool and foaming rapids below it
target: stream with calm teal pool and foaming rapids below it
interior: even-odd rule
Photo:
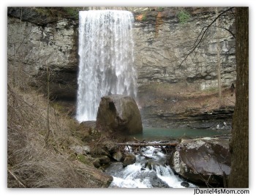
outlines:
[[[211,129],[162,129],[144,128],[143,134],[129,135],[128,140],[135,137],[138,140],[151,140],[159,143],[159,140],[175,140],[181,137],[211,137],[214,135],[229,134],[227,130]],[[105,173],[113,176],[113,182],[109,188],[197,188],[180,176],[173,173],[168,164],[170,153],[165,153],[165,148],[157,146],[140,147],[140,152],[127,146],[127,153],[134,154],[136,162],[127,167],[123,167],[122,162],[112,162],[105,169]]]

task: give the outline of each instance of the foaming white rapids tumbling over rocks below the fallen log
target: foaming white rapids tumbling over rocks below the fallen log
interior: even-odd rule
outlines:
[[[116,162],[105,170],[105,173],[113,176],[110,188],[184,188],[181,186],[184,180],[176,176],[169,165],[165,165],[166,155],[161,149],[148,146],[141,150],[151,159],[136,155],[133,165],[123,167],[121,162]],[[127,151],[131,151],[130,148]],[[151,166],[146,166],[147,162],[151,162]],[[195,184],[188,184],[189,187],[197,187]]]

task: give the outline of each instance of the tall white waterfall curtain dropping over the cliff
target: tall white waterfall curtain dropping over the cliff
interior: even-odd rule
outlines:
[[[78,121],[97,117],[100,98],[124,94],[136,98],[132,12],[79,12]]]

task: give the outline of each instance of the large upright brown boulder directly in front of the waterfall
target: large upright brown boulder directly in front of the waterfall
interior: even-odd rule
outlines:
[[[132,97],[113,94],[102,97],[99,103],[97,129],[126,134],[143,131],[138,105]]]

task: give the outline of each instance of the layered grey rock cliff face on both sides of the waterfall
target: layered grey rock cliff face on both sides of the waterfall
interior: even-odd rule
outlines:
[[[67,15],[67,9],[54,9],[8,8],[8,75],[43,90],[49,67],[51,96],[75,101],[78,18]],[[216,18],[214,8],[184,8],[190,15],[185,23],[177,18],[181,12],[178,7],[130,9],[135,16],[133,38],[139,86],[179,82],[197,83],[201,89],[217,86],[216,26],[208,29],[200,47],[181,64],[200,39],[197,36],[201,30]],[[223,10],[227,8],[219,12]],[[234,26],[233,12],[225,12],[219,20],[222,83],[230,86],[236,80],[234,37],[229,32]]]

